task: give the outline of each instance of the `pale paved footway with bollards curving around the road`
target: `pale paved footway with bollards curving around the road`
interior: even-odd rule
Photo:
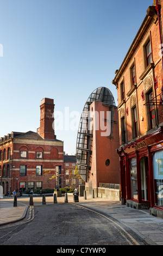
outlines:
[[[65,203],[65,197],[58,197],[58,203]],[[33,197],[35,205],[42,205],[42,197]],[[148,210],[136,210],[121,205],[120,201],[107,198],[79,197],[79,202],[73,202],[73,196],[68,196],[68,203],[77,204],[99,214],[111,217],[133,230],[146,245],[163,245],[163,218],[149,215]],[[46,205],[54,204],[53,197],[46,197]],[[14,206],[13,197],[0,199],[0,228],[26,217],[29,208],[29,197],[17,198]]]

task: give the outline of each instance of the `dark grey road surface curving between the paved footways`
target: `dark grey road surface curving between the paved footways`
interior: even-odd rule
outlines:
[[[73,203],[30,206],[26,218],[0,227],[0,245],[143,245],[110,217]]]

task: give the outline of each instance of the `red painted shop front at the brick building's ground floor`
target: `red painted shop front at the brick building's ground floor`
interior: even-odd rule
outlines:
[[[117,153],[122,204],[163,211],[163,126],[118,149]]]

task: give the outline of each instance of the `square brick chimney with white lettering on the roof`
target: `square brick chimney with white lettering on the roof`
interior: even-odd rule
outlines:
[[[54,100],[44,98],[40,105],[40,128],[37,133],[44,139],[55,139],[54,135]]]

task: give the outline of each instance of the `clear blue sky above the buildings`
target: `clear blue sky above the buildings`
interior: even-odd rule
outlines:
[[[126,56],[152,0],[0,0],[1,125],[35,131],[40,103],[82,113],[98,87],[108,87]],[[71,118],[70,118],[71,121]],[[78,120],[79,121],[79,120]],[[78,124],[77,124],[78,126]],[[57,130],[67,154],[76,153],[76,130]]]

